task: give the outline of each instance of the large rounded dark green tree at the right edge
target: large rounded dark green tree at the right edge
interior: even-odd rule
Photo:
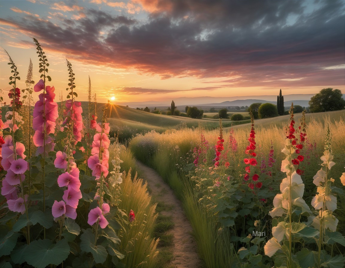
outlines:
[[[309,110],[311,113],[338,111],[345,109],[345,100],[339,89],[322,89],[319,93],[311,97]]]

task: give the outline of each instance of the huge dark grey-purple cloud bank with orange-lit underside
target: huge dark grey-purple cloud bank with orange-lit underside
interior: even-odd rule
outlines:
[[[326,75],[333,84],[344,84],[341,72],[322,70],[344,64],[343,1],[140,3],[150,12],[144,24],[85,9],[84,18],[59,25],[33,17],[1,21],[31,32],[69,58],[135,68],[162,79],[235,76],[228,83],[255,86],[296,78],[309,83]]]

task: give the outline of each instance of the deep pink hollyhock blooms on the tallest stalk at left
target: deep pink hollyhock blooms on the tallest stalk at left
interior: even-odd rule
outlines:
[[[32,127],[35,131],[33,135],[33,143],[37,146],[36,154],[43,153],[43,148],[46,148],[46,152],[54,150],[55,143],[48,134],[53,134],[56,127],[56,119],[58,118],[58,104],[54,102],[55,87],[46,86],[41,79],[33,87],[35,92],[40,92],[43,89],[43,93],[39,94],[39,100],[36,102],[33,109]]]

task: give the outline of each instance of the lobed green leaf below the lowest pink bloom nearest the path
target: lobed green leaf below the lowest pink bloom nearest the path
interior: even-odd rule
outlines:
[[[105,262],[108,253],[107,250],[101,245],[93,245],[95,241],[95,235],[92,233],[91,229],[82,229],[83,233],[80,236],[80,249],[85,252],[91,252],[93,259],[96,263]]]

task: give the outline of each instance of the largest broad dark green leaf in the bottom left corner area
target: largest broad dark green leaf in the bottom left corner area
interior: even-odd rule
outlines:
[[[65,239],[52,244],[49,239],[35,240],[28,245],[26,261],[34,267],[46,267],[49,264],[59,265],[69,255],[69,245]]]

